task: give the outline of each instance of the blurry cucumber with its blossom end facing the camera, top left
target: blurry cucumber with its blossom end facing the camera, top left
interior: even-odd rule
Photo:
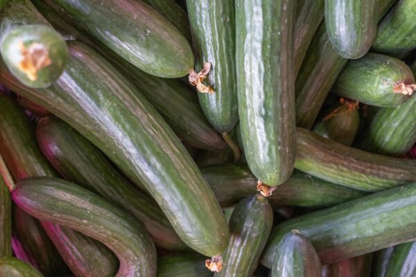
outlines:
[[[20,82],[43,88],[64,71],[68,48],[31,1],[9,0],[0,14],[0,53]]]

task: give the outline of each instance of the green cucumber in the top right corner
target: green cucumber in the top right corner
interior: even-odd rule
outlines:
[[[399,59],[416,48],[416,1],[400,0],[377,28],[372,51]]]

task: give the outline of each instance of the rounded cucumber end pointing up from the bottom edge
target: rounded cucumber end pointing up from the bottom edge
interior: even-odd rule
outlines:
[[[284,235],[277,245],[271,277],[318,277],[321,264],[309,240],[297,230]]]

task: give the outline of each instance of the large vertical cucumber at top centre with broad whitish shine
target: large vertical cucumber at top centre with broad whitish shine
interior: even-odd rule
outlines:
[[[284,183],[295,161],[295,1],[236,0],[236,67],[241,137],[253,174]]]

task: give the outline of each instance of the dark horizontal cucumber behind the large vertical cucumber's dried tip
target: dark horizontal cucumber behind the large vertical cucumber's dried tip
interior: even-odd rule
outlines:
[[[246,165],[205,166],[201,171],[221,206],[230,206],[243,197],[257,193],[257,179]],[[275,188],[268,200],[273,208],[281,205],[324,207],[363,195],[363,191],[331,184],[295,170],[284,184]]]

